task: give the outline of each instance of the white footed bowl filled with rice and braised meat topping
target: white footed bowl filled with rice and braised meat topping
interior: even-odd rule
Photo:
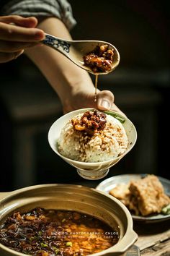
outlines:
[[[82,108],[50,127],[50,147],[85,179],[102,179],[135,145],[134,124],[115,111]]]

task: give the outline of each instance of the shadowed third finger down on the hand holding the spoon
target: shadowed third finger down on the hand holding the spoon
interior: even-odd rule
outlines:
[[[0,51],[2,53],[12,53],[12,52],[21,51],[22,49],[30,48],[37,45],[38,43],[9,42],[5,40],[0,40]]]

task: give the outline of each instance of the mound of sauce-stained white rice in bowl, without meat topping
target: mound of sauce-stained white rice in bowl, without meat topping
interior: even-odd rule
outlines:
[[[81,119],[83,114],[74,118]],[[117,158],[128,148],[128,137],[120,121],[107,115],[107,123],[91,137],[73,129],[71,120],[61,130],[58,151],[66,158],[83,162],[103,162]]]

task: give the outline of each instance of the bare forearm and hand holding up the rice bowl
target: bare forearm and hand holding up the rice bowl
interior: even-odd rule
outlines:
[[[55,17],[42,19],[38,26],[50,35],[71,40],[66,26]],[[113,103],[114,95],[109,90],[97,90],[97,101],[94,102],[95,88],[89,74],[58,51],[54,51],[48,46],[42,46],[29,48],[26,54],[58,94],[63,104],[64,114],[79,108],[114,110],[123,114]],[[43,58],[41,58],[42,54]]]

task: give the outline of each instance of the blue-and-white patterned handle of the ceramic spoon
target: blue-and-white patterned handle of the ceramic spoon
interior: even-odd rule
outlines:
[[[67,41],[61,38],[56,38],[53,35],[45,34],[45,39],[42,40],[42,43],[45,44],[45,46],[50,46],[51,48],[54,48],[56,51],[60,51],[61,54],[64,54],[69,58],[71,44]]]

